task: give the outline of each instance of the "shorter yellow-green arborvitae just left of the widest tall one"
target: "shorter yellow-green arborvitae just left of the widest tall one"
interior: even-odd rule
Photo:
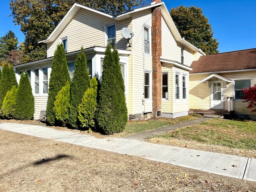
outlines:
[[[82,128],[95,127],[95,110],[97,106],[97,87],[96,77],[90,81],[90,88],[84,93],[82,102],[78,106],[78,120]]]

